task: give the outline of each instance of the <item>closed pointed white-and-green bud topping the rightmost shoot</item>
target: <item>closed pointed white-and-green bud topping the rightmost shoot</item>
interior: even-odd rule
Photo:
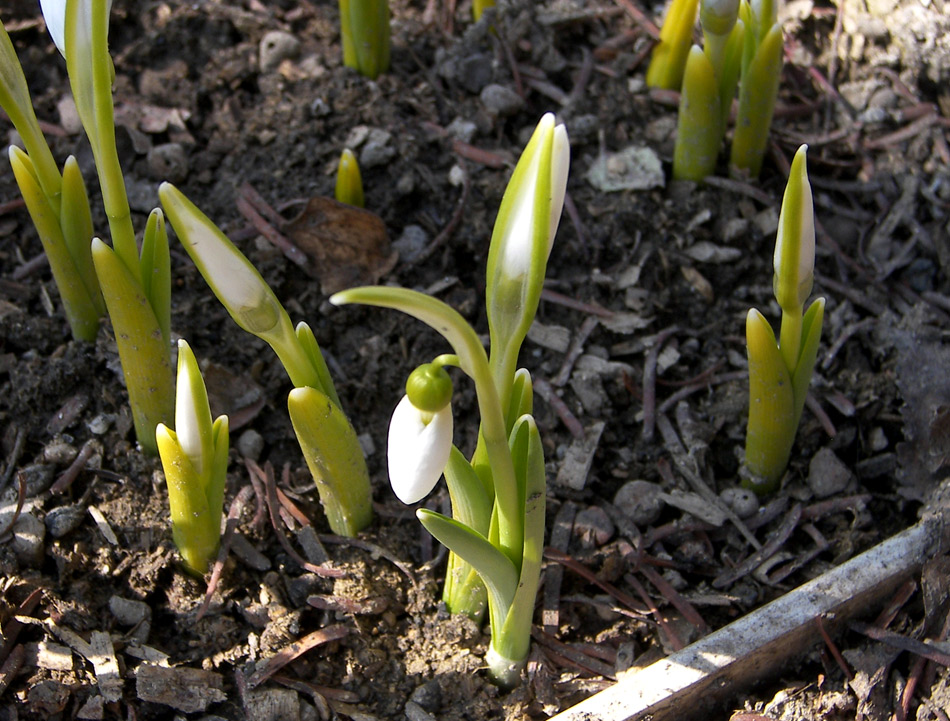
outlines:
[[[795,153],[775,237],[773,286],[783,310],[800,309],[815,280],[815,212],[805,164],[807,145]]]

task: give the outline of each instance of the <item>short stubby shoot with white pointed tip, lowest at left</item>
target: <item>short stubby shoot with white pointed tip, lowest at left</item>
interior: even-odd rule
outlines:
[[[156,443],[168,487],[172,538],[192,573],[203,575],[218,552],[228,468],[228,417],[212,423],[198,361],[178,341],[175,430],[159,423]]]

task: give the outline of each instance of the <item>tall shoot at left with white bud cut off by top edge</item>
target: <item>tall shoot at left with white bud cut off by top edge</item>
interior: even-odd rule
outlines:
[[[135,433],[142,449],[154,455],[155,428],[170,420],[174,402],[168,237],[161,211],[155,210],[141,253],[135,242],[115,145],[110,6],[108,0],[45,0],[43,13],[66,58],[76,109],[96,162],[112,246],[92,239],[92,261],[115,331]]]

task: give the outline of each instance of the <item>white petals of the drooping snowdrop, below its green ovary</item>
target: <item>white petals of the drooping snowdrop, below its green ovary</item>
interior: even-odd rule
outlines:
[[[448,463],[452,450],[452,406],[426,413],[409,396],[393,411],[389,423],[389,482],[405,504],[425,498]]]

